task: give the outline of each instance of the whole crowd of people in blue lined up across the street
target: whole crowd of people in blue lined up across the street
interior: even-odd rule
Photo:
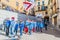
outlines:
[[[40,19],[39,21],[30,20],[29,18],[26,21],[20,20],[15,21],[15,18],[12,17],[11,20],[9,18],[6,18],[3,22],[4,24],[4,31],[6,33],[6,36],[9,37],[15,37],[18,33],[20,36],[23,35],[23,33],[29,33],[29,35],[32,34],[32,32],[43,32],[42,29],[45,28],[47,30],[47,20],[44,21]]]

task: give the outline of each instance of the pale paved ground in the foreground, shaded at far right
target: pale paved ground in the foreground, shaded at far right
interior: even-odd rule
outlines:
[[[19,33],[18,33],[19,34]],[[5,36],[5,33],[0,30],[0,40],[9,40],[11,38]],[[48,31],[43,29],[43,32],[35,32],[32,35],[23,34],[20,40],[60,40],[60,32],[49,28]]]

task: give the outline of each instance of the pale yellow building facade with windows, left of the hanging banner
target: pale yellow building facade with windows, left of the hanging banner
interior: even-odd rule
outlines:
[[[23,0],[1,0],[2,8],[10,7],[13,10],[23,12]]]

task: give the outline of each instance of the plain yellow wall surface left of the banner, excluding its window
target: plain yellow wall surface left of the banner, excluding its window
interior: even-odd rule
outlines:
[[[14,9],[17,9],[19,11],[22,11],[23,8],[23,0],[9,0],[9,2],[7,2],[6,0],[1,0],[1,2],[5,5],[11,6]],[[16,2],[19,3],[19,6],[16,6]]]

